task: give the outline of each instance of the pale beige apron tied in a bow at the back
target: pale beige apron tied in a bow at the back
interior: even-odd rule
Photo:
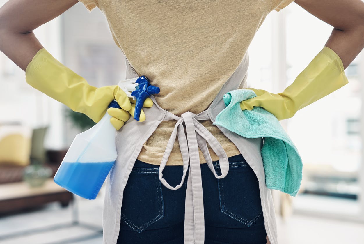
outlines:
[[[137,78],[139,75],[126,60],[126,79]],[[227,155],[217,139],[198,120],[210,119],[215,122],[217,114],[225,108],[223,95],[228,91],[246,87],[246,75],[249,66],[248,53],[244,56],[240,65],[236,68],[230,78],[223,84],[217,97],[207,110],[199,114],[187,111],[181,117],[170,113],[158,106],[153,95],[150,98],[154,105],[144,109],[146,120],[142,123],[129,119],[122,129],[116,132],[116,150],[118,158],[106,178],[106,194],[103,206],[103,244],[116,244],[120,229],[120,212],[123,201],[123,191],[126,186],[129,174],[134,166],[143,144],[153,134],[159,123],[164,120],[176,120],[174,130],[170,136],[161,165],[159,166],[159,179],[169,189],[178,189],[185,179],[188,164],[190,162],[189,176],[187,179],[186,201],[185,201],[185,243],[204,243],[204,216],[201,169],[198,154],[198,147],[216,178],[223,178],[229,170]],[[186,126],[186,133],[183,128]],[[227,138],[230,139],[248,162],[256,174],[259,182],[264,224],[268,238],[272,244],[277,244],[277,229],[274,213],[273,199],[270,189],[265,185],[265,174],[263,161],[260,154],[263,139],[245,138],[233,133],[224,127],[217,126]],[[181,184],[171,187],[163,178],[163,169],[173,147],[176,136],[183,159],[183,176]],[[219,157],[221,175],[215,173],[211,156],[207,149],[207,143]]]

